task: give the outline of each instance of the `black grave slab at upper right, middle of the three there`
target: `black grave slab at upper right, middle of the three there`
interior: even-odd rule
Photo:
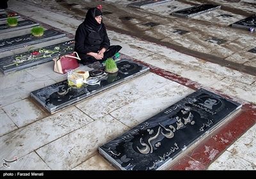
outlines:
[[[183,10],[178,10],[176,12],[172,12],[172,14],[182,16],[182,17],[192,17],[194,15],[209,12],[211,10],[216,10],[218,8],[221,8],[221,6],[214,5],[214,4],[201,4],[198,6],[193,6],[191,8],[186,8]]]

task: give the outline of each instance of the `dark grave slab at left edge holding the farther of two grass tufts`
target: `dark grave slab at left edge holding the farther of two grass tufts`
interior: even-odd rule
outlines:
[[[18,22],[17,26],[8,26],[8,24],[0,25],[0,33],[6,33],[10,31],[16,31],[20,29],[26,29],[29,27],[39,26],[38,23],[33,22],[32,20],[21,20]]]

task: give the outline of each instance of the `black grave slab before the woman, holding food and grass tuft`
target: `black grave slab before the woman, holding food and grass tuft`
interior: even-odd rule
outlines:
[[[35,100],[47,109],[47,111],[55,113],[56,111],[60,111],[65,107],[76,104],[81,100],[92,97],[97,93],[149,71],[147,66],[140,65],[129,59],[116,61],[116,65],[118,67],[118,72],[114,74],[104,73],[102,76],[97,76],[100,79],[99,84],[84,84],[81,88],[72,88],[68,86],[68,81],[65,80],[32,91],[31,97],[35,98]],[[104,66],[99,70],[104,72]],[[91,72],[90,75],[92,75]]]

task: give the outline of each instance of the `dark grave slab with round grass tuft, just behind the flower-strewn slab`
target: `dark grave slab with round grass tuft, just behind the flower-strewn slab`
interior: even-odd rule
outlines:
[[[44,31],[42,36],[33,36],[32,34],[15,36],[13,38],[7,38],[0,40],[0,52],[10,51],[12,49],[18,49],[24,47],[24,45],[33,45],[35,43],[46,42],[56,38],[65,36],[65,33],[49,29]]]

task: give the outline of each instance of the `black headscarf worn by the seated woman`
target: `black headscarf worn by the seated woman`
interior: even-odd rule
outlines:
[[[102,20],[101,24],[99,24],[95,17],[99,15],[102,15],[102,12],[98,8],[90,8],[84,19],[84,26],[86,26],[90,31],[98,32],[102,27]]]

